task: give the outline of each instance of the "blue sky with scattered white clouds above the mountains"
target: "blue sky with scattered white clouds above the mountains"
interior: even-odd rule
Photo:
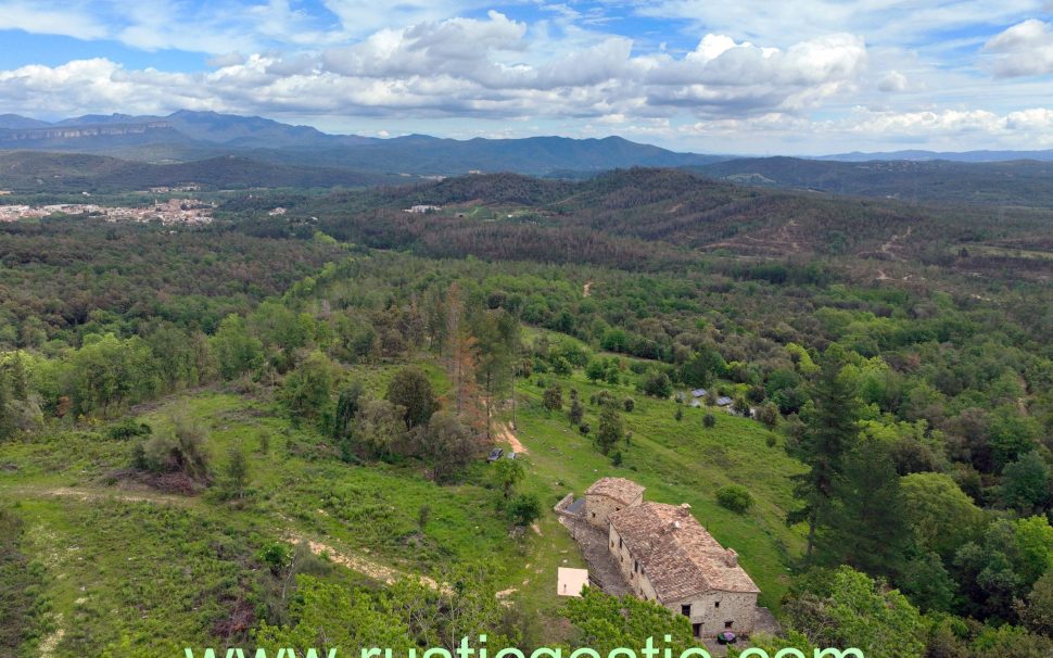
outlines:
[[[678,151],[1053,148],[1053,0],[0,0],[0,114]]]

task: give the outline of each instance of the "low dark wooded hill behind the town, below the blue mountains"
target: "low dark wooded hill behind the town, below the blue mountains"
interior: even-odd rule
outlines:
[[[236,156],[147,164],[103,155],[0,151],[0,189],[14,192],[125,192],[187,184],[205,189],[331,188],[373,186],[393,180],[395,178],[379,174],[291,166]]]

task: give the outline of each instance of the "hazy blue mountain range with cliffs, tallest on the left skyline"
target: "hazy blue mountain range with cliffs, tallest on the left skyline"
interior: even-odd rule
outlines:
[[[190,111],[168,116],[86,115],[56,123],[0,115],[0,150],[93,153],[154,163],[236,155],[282,165],[416,175],[471,170],[598,172],[631,166],[678,167],[721,160],[675,153],[620,137],[454,140],[410,135],[378,139],[328,135],[308,126],[255,116]]]

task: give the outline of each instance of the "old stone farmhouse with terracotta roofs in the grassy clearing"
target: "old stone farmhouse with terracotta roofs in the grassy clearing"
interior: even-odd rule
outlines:
[[[644,488],[624,478],[604,478],[585,491],[584,501],[572,497],[556,511],[583,521],[591,531],[585,535],[606,535],[606,557],[630,592],[690,619],[696,637],[753,631],[760,590],[737,554],[702,528],[689,505],[645,502]],[[578,532],[575,537],[581,541]]]

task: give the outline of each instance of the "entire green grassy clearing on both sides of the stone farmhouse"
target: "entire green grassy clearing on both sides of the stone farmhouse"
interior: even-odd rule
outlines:
[[[442,369],[420,365],[444,391]],[[396,369],[357,367],[347,376],[380,394]],[[23,520],[21,549],[43,573],[47,606],[31,655],[161,655],[188,640],[214,637],[231,610],[257,598],[252,574],[262,568],[259,551],[300,540],[317,542],[334,562],[354,562],[366,572],[338,567],[348,583],[489,561],[503,597],[521,611],[524,640],[556,641],[569,632],[558,617],[556,568],[583,562],[551,506],[606,474],[639,481],[648,499],[692,504],[713,535],[738,551],[763,590],[762,603],[776,606],[786,590],[787,558],[801,544],[782,522],[790,499],[787,476],[799,466],[778,445],[767,445],[770,432],[721,412],[714,412],[714,428],[703,428],[705,409],[684,408],[677,422],[673,402],[627,387],[593,385],[580,375],[559,381],[586,402],[602,388],[619,398],[633,395],[636,409],[625,415],[632,444],[622,446],[622,466],[612,467],[564,415],[543,408],[534,381],[521,381],[518,435],[530,451],[521,489],[541,497],[544,514],[533,528],[511,533],[484,461],[442,486],[419,461],[346,465],[316,430],[291,422],[266,392],[206,389],[136,410],[155,432],[177,415],[205,428],[216,469],[241,446],[253,490],[244,504],[128,484],[120,471],[131,461],[135,441],[110,439],[105,427],[55,429],[0,444],[0,507]],[[596,408],[586,407],[595,428]],[[728,482],[753,492],[757,505],[748,515],[715,504],[715,490]],[[420,527],[426,506],[430,518]]]

